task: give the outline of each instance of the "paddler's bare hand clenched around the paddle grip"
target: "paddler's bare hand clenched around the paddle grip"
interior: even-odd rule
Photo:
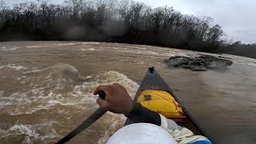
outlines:
[[[130,111],[133,109],[133,100],[130,98],[125,87],[118,83],[109,86],[98,86],[94,90],[94,95],[97,95],[100,90],[106,94],[105,100],[102,98],[97,99],[98,105],[103,110],[110,110],[116,114],[125,114],[126,116],[130,114]]]

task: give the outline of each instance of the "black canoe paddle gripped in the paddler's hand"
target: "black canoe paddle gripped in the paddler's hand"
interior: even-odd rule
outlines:
[[[102,90],[99,91],[98,96],[103,100],[105,100],[106,98],[106,94]],[[98,110],[96,110],[94,114],[91,114],[89,118],[87,118],[84,122],[82,122],[82,124],[80,124],[77,128],[71,131],[70,134],[67,134],[66,137],[62,138],[56,144],[62,144],[62,143],[68,142],[70,139],[80,134],[83,130],[86,130],[87,127],[89,127],[91,124],[96,122],[98,118],[101,118],[102,115],[105,113],[106,113],[106,110],[102,110],[101,108],[98,108]]]

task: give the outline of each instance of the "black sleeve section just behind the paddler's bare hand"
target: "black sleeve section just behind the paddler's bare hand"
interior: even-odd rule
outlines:
[[[134,103],[132,111],[126,117],[134,123],[146,122],[161,126],[160,115],[157,112],[148,110],[146,107],[142,106],[138,102]]]

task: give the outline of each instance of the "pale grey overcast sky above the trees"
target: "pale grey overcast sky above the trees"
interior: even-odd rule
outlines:
[[[256,42],[256,0],[135,0],[152,7],[173,6],[182,14],[210,16],[222,26],[226,38],[245,43]],[[26,2],[26,0],[6,0]],[[64,0],[51,0],[61,3]]]

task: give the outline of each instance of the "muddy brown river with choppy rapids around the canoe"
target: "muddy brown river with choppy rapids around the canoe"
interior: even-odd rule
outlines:
[[[0,143],[58,141],[98,108],[98,85],[118,82],[134,97],[149,66],[215,143],[256,143],[256,60],[223,54],[232,66],[204,72],[162,62],[197,54],[102,42],[0,42]],[[108,112],[69,143],[106,143],[125,121]]]

